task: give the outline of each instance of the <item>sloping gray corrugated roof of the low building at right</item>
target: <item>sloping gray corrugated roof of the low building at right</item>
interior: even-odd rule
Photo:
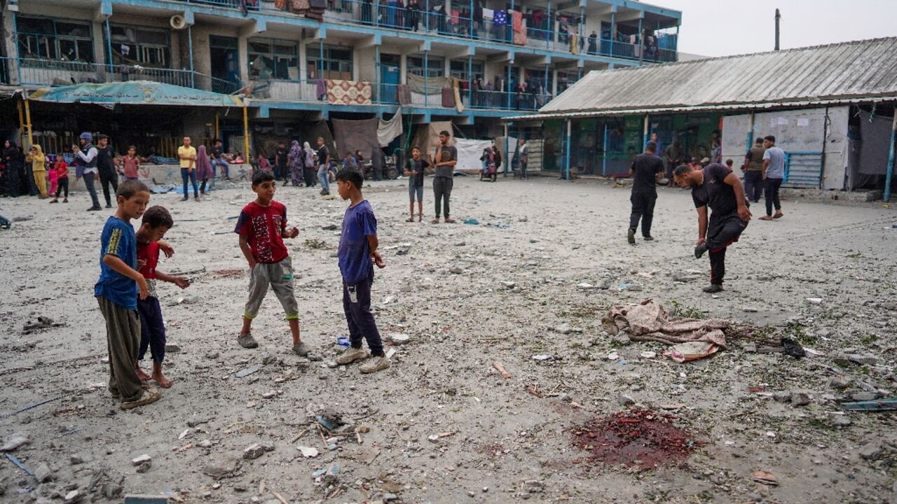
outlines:
[[[535,116],[760,109],[897,99],[897,37],[594,71]]]

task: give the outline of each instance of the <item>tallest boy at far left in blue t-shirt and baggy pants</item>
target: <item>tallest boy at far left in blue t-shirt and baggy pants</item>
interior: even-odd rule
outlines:
[[[158,388],[144,387],[137,376],[137,299],[145,300],[149,287],[137,271],[137,237],[131,219],[144,214],[150,189],[137,180],[125,180],[118,186],[116,200],[118,209],[109,216],[100,238],[100,280],[93,295],[106,319],[109,393],[121,399],[121,409],[129,410],[161,397]]]

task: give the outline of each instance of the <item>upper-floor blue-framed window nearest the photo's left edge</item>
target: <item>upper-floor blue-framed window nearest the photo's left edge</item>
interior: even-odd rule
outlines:
[[[19,56],[27,59],[93,63],[89,22],[17,16]]]

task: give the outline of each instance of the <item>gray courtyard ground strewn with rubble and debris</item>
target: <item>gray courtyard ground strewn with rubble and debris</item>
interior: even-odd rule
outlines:
[[[365,187],[388,264],[374,283],[375,315],[385,339],[410,337],[374,375],[327,365],[347,335],[335,258],[344,202],[298,187],[275,196],[300,228],[287,242],[302,339],[313,350],[304,359],[290,353],[271,293],[254,325],[260,347],[235,341],[248,270],[231,231],[252,198],[248,185],[201,204],[152,196],[176,222],[167,237],[176,254],[159,269],[194,285],[161,284],[169,344],[179,347],[165,361],[175,384],[132,412],[106,390],[105,329],[92,298],[109,212],[84,212],[83,191],[70,204],[0,201],[0,214],[30,218],[0,230],[0,436],[28,433],[13,456],[31,470],[46,464],[52,478],[38,484],[0,458],[0,500],[897,500],[894,413],[840,414],[839,404],[897,387],[893,209],[788,201],[780,221],[755,214],[729,249],[727,290],[711,296],[701,292],[709,262],[692,256],[686,191],[659,190],[657,240],[633,248],[628,188],[551,178],[455,184],[454,225],[406,223],[404,180]],[[469,218],[480,223],[460,223]],[[196,302],[179,303],[185,293]],[[730,338],[727,350],[680,364],[660,343],[605,333],[609,308],[649,298],[680,314],[769,326],[768,338],[788,335],[814,352],[748,352],[747,340]],[[61,326],[24,332],[37,317]],[[799,405],[802,392],[809,404]],[[657,468],[606,466],[577,448],[580,426],[630,407],[673,417],[694,436],[692,455]],[[326,439],[318,416],[346,425]],[[135,467],[144,454],[152,462]],[[778,486],[754,482],[755,471]]]

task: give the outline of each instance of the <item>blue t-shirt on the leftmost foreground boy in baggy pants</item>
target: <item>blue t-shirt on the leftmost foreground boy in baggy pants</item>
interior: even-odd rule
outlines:
[[[111,254],[137,269],[137,235],[134,226],[111,215],[103,226],[100,243],[100,280],[93,288],[93,295],[102,296],[122,308],[137,309],[137,282],[103,264],[103,256]]]

